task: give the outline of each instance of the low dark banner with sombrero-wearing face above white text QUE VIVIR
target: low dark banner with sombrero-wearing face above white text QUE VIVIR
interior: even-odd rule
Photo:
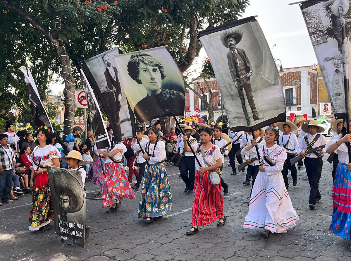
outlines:
[[[86,201],[81,172],[48,168],[55,234],[61,242],[84,247]]]

